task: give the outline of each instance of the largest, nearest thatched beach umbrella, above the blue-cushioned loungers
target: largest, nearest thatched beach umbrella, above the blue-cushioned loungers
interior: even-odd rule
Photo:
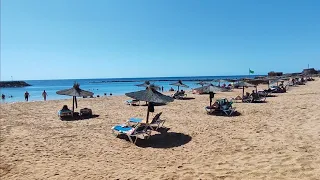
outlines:
[[[170,96],[166,96],[158,92],[153,85],[148,86],[145,90],[130,92],[125,94],[128,97],[139,101],[148,102],[148,111],[147,111],[147,123],[149,120],[149,108],[151,106],[150,103],[168,103],[173,102],[173,98]]]

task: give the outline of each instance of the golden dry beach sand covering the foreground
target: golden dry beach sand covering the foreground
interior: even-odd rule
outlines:
[[[155,107],[170,130],[137,145],[111,133],[146,116],[125,96],[80,99],[99,117],[69,122],[57,111],[71,99],[2,104],[1,179],[320,179],[319,87],[317,79],[267,103],[235,103],[237,117],[209,116],[208,95],[189,94]]]

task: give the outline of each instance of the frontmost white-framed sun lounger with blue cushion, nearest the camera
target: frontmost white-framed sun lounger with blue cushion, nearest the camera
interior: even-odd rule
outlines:
[[[126,124],[113,126],[112,132],[114,135],[119,136],[120,134],[126,135],[130,142],[136,144],[137,139],[146,139],[151,135],[151,131],[147,129],[148,126],[145,124],[137,123],[135,126],[128,126]],[[133,141],[132,138],[135,138]]]

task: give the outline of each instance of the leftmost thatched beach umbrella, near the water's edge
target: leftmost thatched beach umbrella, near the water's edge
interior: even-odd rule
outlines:
[[[93,96],[93,93],[90,91],[85,91],[80,89],[80,84],[74,83],[73,87],[70,89],[60,90],[56,92],[59,95],[72,96],[72,111],[74,112],[74,104],[76,104],[76,108],[78,108],[77,97],[83,96]]]

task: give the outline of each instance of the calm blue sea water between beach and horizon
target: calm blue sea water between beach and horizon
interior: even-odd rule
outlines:
[[[0,94],[5,94],[6,99],[2,100],[1,103],[12,103],[24,101],[24,93],[29,92],[29,101],[40,101],[43,100],[42,92],[46,90],[48,96],[47,100],[57,99],[70,99],[70,96],[62,96],[56,94],[57,91],[71,88],[74,82],[80,84],[80,88],[88,90],[97,95],[103,96],[107,93],[109,96],[112,95],[124,95],[127,92],[142,90],[143,87],[135,86],[141,84],[146,80],[151,83],[155,83],[158,86],[163,86],[164,91],[168,91],[171,87],[175,90],[176,86],[169,84],[174,83],[177,80],[182,80],[184,84],[188,85],[189,88],[183,88],[184,90],[190,90],[192,88],[199,87],[196,83],[198,80],[213,80],[213,79],[240,79],[248,76],[200,76],[200,77],[159,77],[159,78],[109,78],[109,79],[65,79],[65,80],[30,80],[26,81],[32,86],[22,88],[0,88]],[[254,77],[254,76],[250,76]],[[208,81],[212,84],[216,82]],[[10,97],[12,96],[12,97]]]

